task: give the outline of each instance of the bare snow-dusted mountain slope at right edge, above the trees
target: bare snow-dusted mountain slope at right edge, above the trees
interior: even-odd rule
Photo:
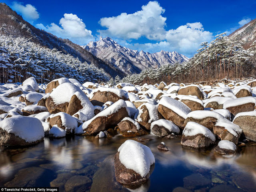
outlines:
[[[237,29],[229,36],[238,38],[238,40],[242,40],[242,45],[245,49],[250,48],[252,43],[256,41],[256,19]]]

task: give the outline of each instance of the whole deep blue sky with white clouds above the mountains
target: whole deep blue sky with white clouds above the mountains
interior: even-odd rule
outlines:
[[[134,50],[191,57],[200,42],[256,18],[254,0],[4,0],[25,20],[85,45],[106,36]]]

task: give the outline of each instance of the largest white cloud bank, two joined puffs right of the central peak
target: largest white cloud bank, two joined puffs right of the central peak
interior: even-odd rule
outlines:
[[[186,56],[192,56],[201,42],[213,39],[212,33],[204,30],[200,22],[187,23],[177,29],[166,30],[166,18],[162,16],[164,11],[158,2],[150,1],[142,6],[142,10],[133,14],[122,13],[114,17],[101,18],[100,25],[107,29],[98,32],[102,36],[126,40],[122,45],[128,48],[147,52],[177,51]],[[127,42],[141,37],[157,42],[145,44]]]

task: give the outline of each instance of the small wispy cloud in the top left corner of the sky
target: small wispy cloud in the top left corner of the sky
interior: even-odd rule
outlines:
[[[31,4],[26,4],[25,6],[21,3],[14,2],[11,6],[18,14],[21,14],[24,20],[33,23],[34,20],[39,18],[39,13],[36,11],[36,8]]]

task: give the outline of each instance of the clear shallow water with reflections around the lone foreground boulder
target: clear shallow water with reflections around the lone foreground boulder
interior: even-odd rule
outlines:
[[[147,184],[132,191],[172,191],[177,187],[200,191],[256,191],[256,145],[241,148],[234,156],[216,156],[212,150],[182,147],[180,137],[156,136],[142,142],[152,150],[156,164]],[[113,158],[128,138],[95,139],[73,136],[49,139],[21,149],[1,148],[0,186],[58,186],[60,191],[128,191],[114,180]],[[157,149],[165,142],[168,152]],[[191,176],[192,175],[192,176]],[[191,176],[190,179],[186,179]],[[56,179],[57,178],[57,179]],[[192,179],[191,179],[192,178]],[[230,188],[231,187],[231,188]]]

